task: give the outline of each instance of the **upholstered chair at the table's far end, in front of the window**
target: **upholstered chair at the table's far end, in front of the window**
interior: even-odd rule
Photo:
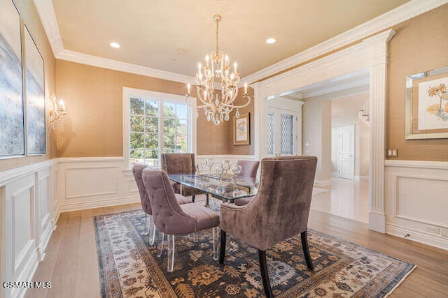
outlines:
[[[193,153],[164,153],[162,154],[162,170],[168,174],[195,174],[195,154]],[[175,193],[181,193],[181,185],[176,182],[171,182]],[[192,196],[192,201],[195,202],[195,195],[202,194],[195,188],[182,186],[181,195]],[[208,195],[207,195],[208,202]]]

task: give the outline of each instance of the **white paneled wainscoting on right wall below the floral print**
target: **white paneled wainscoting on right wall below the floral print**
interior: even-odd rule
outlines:
[[[448,163],[385,165],[386,232],[448,250]]]

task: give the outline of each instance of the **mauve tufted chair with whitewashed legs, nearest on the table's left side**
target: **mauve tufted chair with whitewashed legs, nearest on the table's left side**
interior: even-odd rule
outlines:
[[[143,181],[148,193],[155,226],[162,232],[162,244],[158,256],[162,254],[165,234],[168,236],[168,271],[174,268],[174,240],[176,235],[213,230],[213,258],[218,260],[218,225],[216,212],[200,204],[179,204],[164,170],[143,171]]]

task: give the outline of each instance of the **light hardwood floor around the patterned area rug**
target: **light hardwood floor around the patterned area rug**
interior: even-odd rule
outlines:
[[[61,214],[33,278],[51,281],[52,288],[28,290],[25,297],[100,297],[93,217],[139,207],[126,204]],[[309,228],[417,265],[391,297],[448,297],[448,251],[372,232],[365,223],[315,210]]]

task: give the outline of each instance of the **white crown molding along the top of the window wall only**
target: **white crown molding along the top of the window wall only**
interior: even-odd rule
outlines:
[[[103,57],[93,56],[71,50],[62,50],[57,55],[57,59],[76,62],[80,64],[87,64],[90,66],[97,66],[99,68],[107,68],[111,70],[124,71],[125,73],[134,73],[136,75],[144,75],[146,77],[156,77],[158,79],[170,80],[181,83],[193,83],[194,77],[188,75],[181,75],[179,73],[171,73],[169,71],[149,68],[137,64],[130,64],[127,62],[107,59]]]

